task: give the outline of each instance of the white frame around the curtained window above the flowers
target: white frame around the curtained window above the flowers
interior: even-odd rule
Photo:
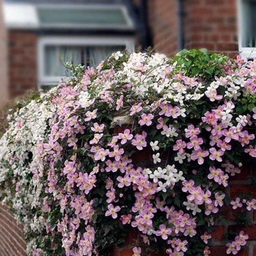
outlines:
[[[133,37],[105,37],[105,36],[83,36],[83,37],[67,37],[67,36],[47,36],[38,40],[38,89],[41,86],[57,84],[63,80],[61,76],[45,75],[45,47],[46,46],[115,46],[124,45],[128,52],[134,51],[135,41]]]

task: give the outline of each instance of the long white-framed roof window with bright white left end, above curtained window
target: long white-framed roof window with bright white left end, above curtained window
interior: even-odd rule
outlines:
[[[4,1],[5,25],[8,28],[134,29],[125,4],[38,2]]]

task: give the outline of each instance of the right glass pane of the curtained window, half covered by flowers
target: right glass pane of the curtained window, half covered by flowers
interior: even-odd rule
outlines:
[[[102,60],[109,57],[116,51],[123,51],[125,46],[91,46],[89,47],[89,62],[90,66],[97,66]]]

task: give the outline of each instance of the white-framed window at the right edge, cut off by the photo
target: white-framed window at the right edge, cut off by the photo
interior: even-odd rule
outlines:
[[[256,1],[239,0],[239,51],[245,58],[256,57]]]

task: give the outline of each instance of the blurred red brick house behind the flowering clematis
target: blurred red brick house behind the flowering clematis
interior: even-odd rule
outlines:
[[[0,105],[56,84],[65,61],[95,66],[125,48],[256,56],[254,0],[2,1]]]

